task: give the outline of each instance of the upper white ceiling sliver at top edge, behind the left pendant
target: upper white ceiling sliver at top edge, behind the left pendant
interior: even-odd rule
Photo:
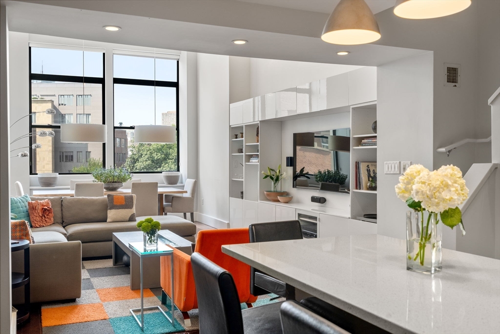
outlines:
[[[238,0],[245,3],[330,14],[340,0]],[[396,0],[365,0],[373,14],[394,7]]]

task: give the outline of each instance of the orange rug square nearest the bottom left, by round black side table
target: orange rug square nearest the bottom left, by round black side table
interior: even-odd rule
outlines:
[[[95,321],[107,319],[104,305],[83,304],[41,309],[41,325],[43,327],[57,326],[76,322]]]

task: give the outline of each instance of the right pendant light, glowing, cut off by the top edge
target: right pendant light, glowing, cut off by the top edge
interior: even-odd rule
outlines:
[[[467,9],[471,0],[397,0],[394,14],[404,19],[433,19]]]

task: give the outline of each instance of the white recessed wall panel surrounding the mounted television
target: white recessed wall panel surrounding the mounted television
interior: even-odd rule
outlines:
[[[350,196],[346,194],[335,194],[328,191],[315,191],[308,189],[297,189],[292,186],[293,167],[286,167],[286,157],[293,156],[293,134],[297,132],[314,132],[323,130],[334,130],[350,128],[350,113],[308,117],[281,122],[281,169],[287,173],[288,178],[282,180],[281,189],[293,196],[297,203],[309,204],[311,207],[329,207],[349,211]],[[326,198],[321,205],[311,203],[311,196]]]

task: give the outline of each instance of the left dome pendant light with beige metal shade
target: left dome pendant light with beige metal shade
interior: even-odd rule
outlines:
[[[324,25],[321,40],[357,45],[375,42],[380,37],[375,17],[364,0],[340,0]]]

